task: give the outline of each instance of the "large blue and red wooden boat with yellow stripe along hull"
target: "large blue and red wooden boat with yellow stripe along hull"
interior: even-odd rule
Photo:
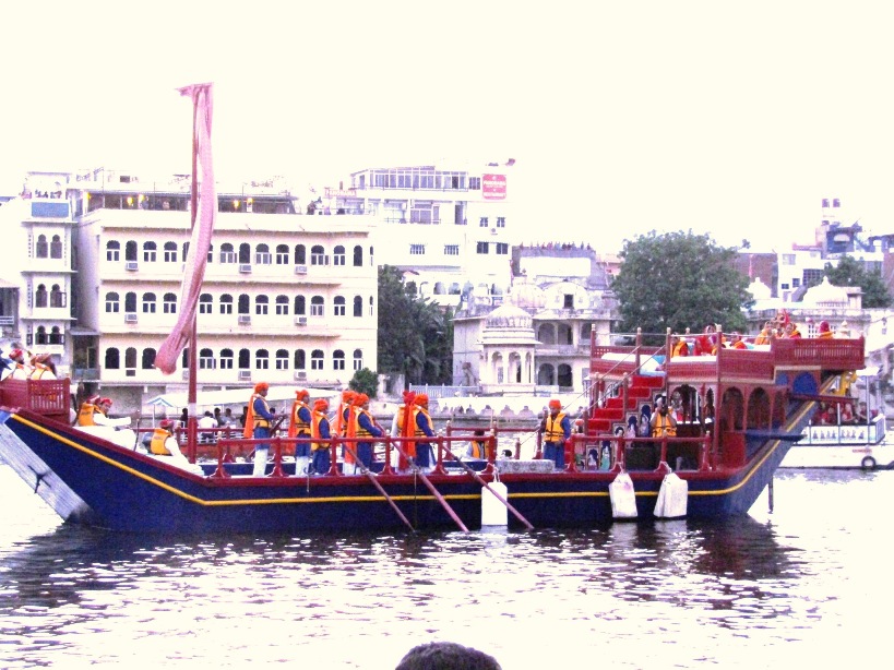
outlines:
[[[193,117],[201,120],[201,100],[193,101]],[[214,219],[206,205],[216,202],[202,163],[208,157],[210,152],[200,157],[205,179],[195,181],[212,193],[194,183],[198,203],[191,207],[198,220],[188,261],[199,263],[211,236],[206,224]],[[194,160],[193,175],[195,166]],[[183,282],[184,306],[189,296],[193,306],[198,300],[196,283],[201,272],[193,270]],[[182,310],[183,320],[158,349],[160,370],[172,368],[189,343],[196,345],[194,312]],[[184,321],[190,313],[191,323]],[[350,475],[339,458],[357,439],[337,435],[327,444],[330,469],[315,476],[296,472],[290,454],[299,440],[283,434],[269,440],[272,459],[264,476],[228,458],[235,445],[253,444],[233,435],[217,439],[216,458],[201,462],[194,423],[198,346],[190,346],[188,467],[146,453],[132,434],[118,440],[112,429],[71,426],[68,379],[0,382],[0,454],[65,522],[123,533],[466,531],[725,518],[748,514],[824,394],[865,360],[862,338],[774,339],[751,349],[680,357],[667,355],[674,350],[671,334],[664,337],[664,344],[652,345],[637,333],[630,344],[607,345],[591,335],[587,397],[575,417],[580,432],[565,440],[565,465],[558,468],[541,450],[529,459],[517,450],[506,456],[492,432],[485,435],[486,457],[477,467],[457,455],[469,440],[462,434],[424,439],[434,450],[430,470],[392,465],[405,462],[419,439],[388,433],[376,441],[380,457],[372,467]],[[625,427],[647,421],[659,396],[671,398],[679,411],[676,436],[629,435]],[[414,395],[404,402],[412,406]]]

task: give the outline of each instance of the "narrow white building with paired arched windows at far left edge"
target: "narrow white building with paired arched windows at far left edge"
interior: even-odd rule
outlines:
[[[28,172],[22,193],[2,208],[0,268],[2,339],[50,354],[65,374],[71,361],[73,220],[64,172]]]

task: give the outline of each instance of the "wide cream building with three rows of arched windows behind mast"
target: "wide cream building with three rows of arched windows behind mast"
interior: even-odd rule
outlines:
[[[154,368],[180,310],[190,236],[189,179],[78,176],[78,326],[73,381],[140,407],[186,388]],[[218,190],[196,315],[200,391],[295,384],[334,387],[374,369],[378,273],[366,216],[308,216],[287,191]]]

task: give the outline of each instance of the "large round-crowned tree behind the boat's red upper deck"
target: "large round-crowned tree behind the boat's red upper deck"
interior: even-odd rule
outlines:
[[[620,255],[623,263],[611,288],[621,332],[701,332],[708,323],[719,323],[726,332],[744,330],[742,308],[753,301],[748,278],[735,270],[735,248],[691,230],[652,230],[625,240]]]

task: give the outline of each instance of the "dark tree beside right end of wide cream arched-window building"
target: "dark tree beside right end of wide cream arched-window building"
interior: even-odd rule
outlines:
[[[437,304],[418,298],[396,267],[379,268],[380,372],[402,372],[407,383],[451,380],[453,325]]]

